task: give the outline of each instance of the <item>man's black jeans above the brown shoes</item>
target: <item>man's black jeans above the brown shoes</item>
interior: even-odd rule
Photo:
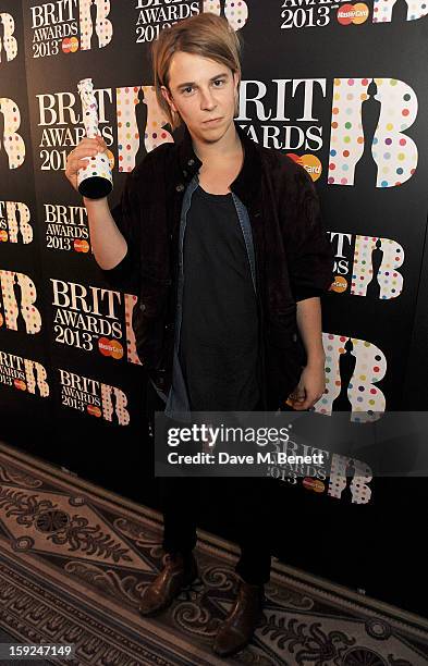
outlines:
[[[151,385],[148,399],[149,409],[163,411],[164,404]],[[254,408],[258,409],[260,405]],[[267,583],[271,565],[272,482],[267,477],[159,477],[163,550],[180,552],[188,559],[196,545],[196,527],[207,516],[211,523],[217,522],[222,535],[240,546],[236,574],[252,584]],[[204,528],[210,529],[205,523]]]

